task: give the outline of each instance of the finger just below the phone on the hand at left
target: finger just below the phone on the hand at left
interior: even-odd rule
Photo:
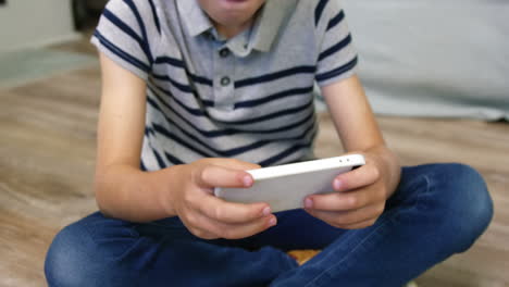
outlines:
[[[246,223],[271,214],[268,203],[236,203],[223,199],[204,196],[196,207],[202,214],[224,223]]]

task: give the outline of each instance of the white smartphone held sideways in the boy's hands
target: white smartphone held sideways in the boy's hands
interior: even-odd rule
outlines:
[[[333,191],[334,178],[365,164],[362,154],[348,154],[307,162],[247,171],[254,184],[250,188],[214,188],[214,195],[232,202],[266,202],[272,212],[299,209],[313,194]]]

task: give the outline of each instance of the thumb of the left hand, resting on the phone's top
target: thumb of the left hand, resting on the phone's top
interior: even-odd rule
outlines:
[[[250,187],[252,176],[241,170],[233,170],[219,165],[204,165],[194,172],[193,180],[197,186],[212,187]]]

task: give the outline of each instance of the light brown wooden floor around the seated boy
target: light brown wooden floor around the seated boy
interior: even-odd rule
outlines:
[[[86,41],[58,49],[92,51]],[[90,187],[99,85],[95,66],[0,90],[0,286],[45,286],[44,258],[52,237],[96,210]],[[474,247],[422,275],[419,285],[509,286],[509,125],[378,120],[405,164],[471,164],[495,200],[495,219]],[[330,118],[321,121],[316,153],[337,154],[342,149]]]

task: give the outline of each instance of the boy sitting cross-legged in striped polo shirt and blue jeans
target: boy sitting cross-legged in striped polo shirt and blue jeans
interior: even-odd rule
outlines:
[[[101,213],[55,237],[50,286],[401,286],[489,223],[472,169],[400,169],[337,0],[111,0],[92,42]],[[251,186],[245,170],[313,158],[314,83],[367,164],[305,210],[213,197]],[[291,249],[323,251],[298,266]]]

